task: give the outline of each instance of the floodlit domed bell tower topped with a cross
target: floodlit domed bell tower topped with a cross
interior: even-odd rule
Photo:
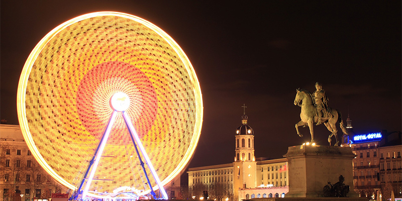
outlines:
[[[248,125],[246,106],[241,117],[242,124],[236,129],[235,133],[235,162],[234,164],[234,188],[237,192],[239,188],[256,187],[256,166],[254,157],[254,131]]]

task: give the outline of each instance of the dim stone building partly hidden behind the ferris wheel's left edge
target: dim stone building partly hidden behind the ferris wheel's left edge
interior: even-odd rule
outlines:
[[[67,191],[36,162],[20,126],[0,124],[0,133],[0,200],[16,201],[16,193],[25,201],[48,199]]]

